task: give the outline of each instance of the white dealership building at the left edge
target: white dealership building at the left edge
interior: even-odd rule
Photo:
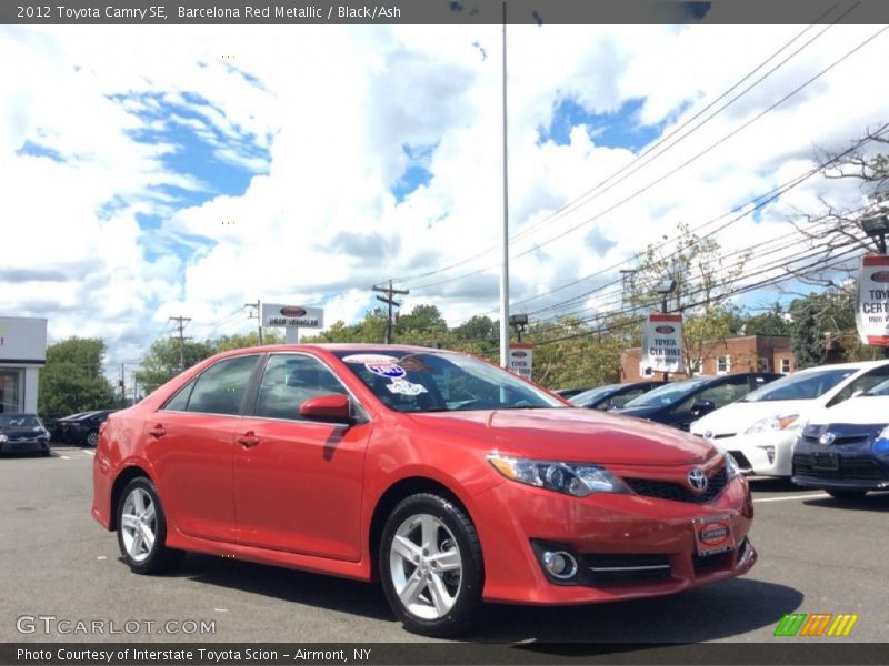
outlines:
[[[47,320],[0,316],[0,412],[37,413],[40,369],[47,364]]]

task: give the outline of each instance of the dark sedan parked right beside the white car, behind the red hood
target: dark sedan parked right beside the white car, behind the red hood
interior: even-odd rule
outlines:
[[[631,400],[617,413],[688,431],[691,423],[705,414],[780,376],[783,375],[775,372],[739,372],[670,382]]]

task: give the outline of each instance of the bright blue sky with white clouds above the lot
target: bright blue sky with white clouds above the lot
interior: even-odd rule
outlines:
[[[790,261],[790,220],[858,184],[752,202],[889,122],[880,29],[510,26],[511,311],[619,307],[680,222],[735,213],[723,252]],[[101,336],[109,367],[171,316],[250,331],[257,300],[352,323],[390,279],[402,311],[497,317],[501,58],[499,26],[0,27],[0,314]]]

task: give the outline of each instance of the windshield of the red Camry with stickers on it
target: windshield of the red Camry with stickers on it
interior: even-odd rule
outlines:
[[[516,375],[462,354],[386,350],[337,356],[397,412],[567,407]]]

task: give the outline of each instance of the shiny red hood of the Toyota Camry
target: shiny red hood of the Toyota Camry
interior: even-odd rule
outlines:
[[[699,464],[712,446],[675,428],[595,410],[545,408],[412,413],[423,428],[487,441],[537,460],[629,465]]]

